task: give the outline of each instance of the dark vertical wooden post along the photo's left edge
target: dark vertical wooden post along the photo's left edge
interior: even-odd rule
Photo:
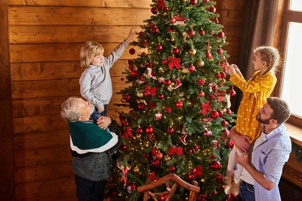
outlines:
[[[8,0],[0,1],[0,198],[14,200]]]

